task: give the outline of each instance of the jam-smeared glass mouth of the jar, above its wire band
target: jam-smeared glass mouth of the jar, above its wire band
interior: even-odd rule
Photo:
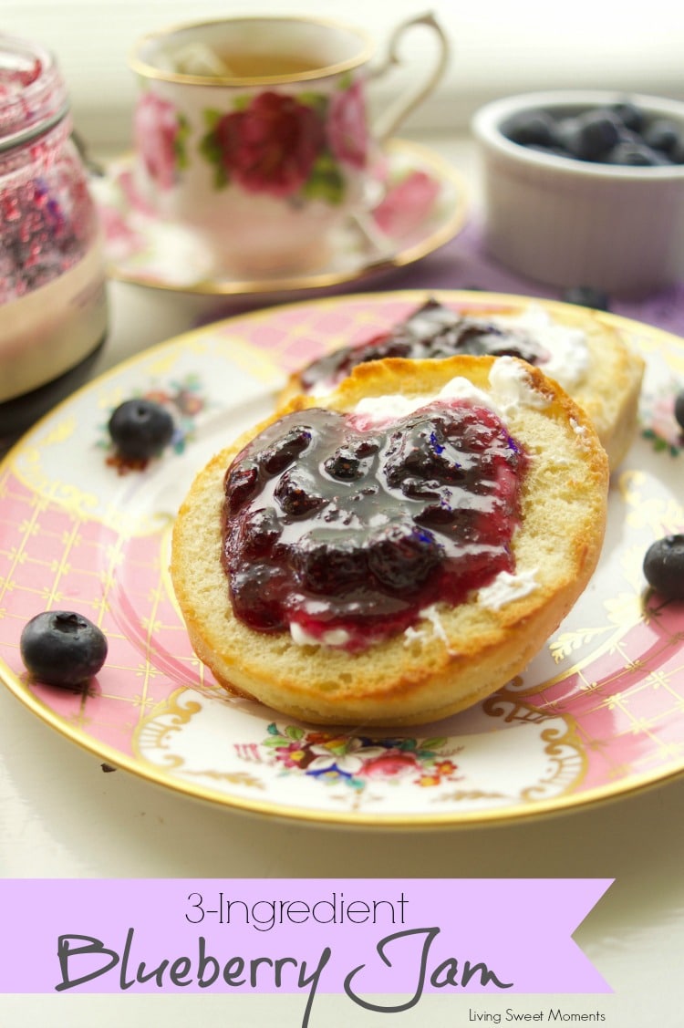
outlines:
[[[51,53],[0,34],[0,151],[46,132],[68,110],[66,85]]]

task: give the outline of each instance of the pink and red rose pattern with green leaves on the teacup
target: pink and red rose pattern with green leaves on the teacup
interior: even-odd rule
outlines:
[[[228,112],[203,111],[206,132],[196,154],[214,169],[214,188],[235,183],[246,192],[298,203],[340,205],[345,169],[368,160],[365,98],[360,80],[341,80],[331,95],[265,89],[240,95]],[[171,189],[191,159],[187,120],[173,103],[145,93],[135,115],[136,146],[147,174]]]

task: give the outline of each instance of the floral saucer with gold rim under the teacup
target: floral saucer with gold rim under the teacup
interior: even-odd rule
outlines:
[[[229,278],[190,229],[161,221],[136,196],[133,162],[132,154],[110,162],[92,191],[108,273],[155,289],[216,296],[329,288],[420,260],[454,238],[466,220],[466,185],[458,172],[434,151],[395,139],[371,176],[382,198],[333,236],[324,265],[299,276]]]

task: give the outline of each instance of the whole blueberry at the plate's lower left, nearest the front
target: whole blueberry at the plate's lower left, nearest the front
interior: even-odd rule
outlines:
[[[48,686],[82,686],[107,658],[107,639],[73,611],[45,611],[24,626],[20,652],[32,678]]]

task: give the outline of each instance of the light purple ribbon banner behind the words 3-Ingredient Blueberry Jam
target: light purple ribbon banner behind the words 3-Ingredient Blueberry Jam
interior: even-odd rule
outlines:
[[[611,883],[4,880],[0,993],[607,993],[571,937]]]

